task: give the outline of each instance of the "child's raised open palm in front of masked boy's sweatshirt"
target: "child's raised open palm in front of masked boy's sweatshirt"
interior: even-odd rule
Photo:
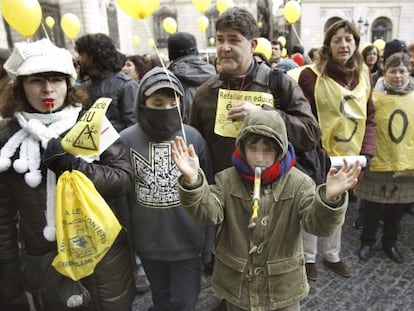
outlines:
[[[200,168],[194,146],[189,145],[187,147],[184,139],[180,136],[175,137],[171,144],[173,160],[181,174],[183,174],[185,182],[189,185],[194,184],[197,181],[198,169]]]

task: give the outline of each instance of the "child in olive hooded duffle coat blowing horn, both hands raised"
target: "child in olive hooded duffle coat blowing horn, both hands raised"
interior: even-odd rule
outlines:
[[[294,167],[282,117],[261,110],[244,118],[233,167],[217,173],[215,185],[208,185],[194,146],[182,137],[175,138],[172,154],[182,173],[178,186],[186,212],[196,223],[219,225],[212,286],[227,310],[300,310],[309,291],[301,226],[325,236],[341,226],[360,165],[349,168],[344,161],[315,188]],[[254,187],[257,176],[260,188]]]

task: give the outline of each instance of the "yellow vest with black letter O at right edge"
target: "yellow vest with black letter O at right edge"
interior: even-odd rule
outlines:
[[[371,171],[414,169],[414,92],[388,95],[374,92],[377,141]]]

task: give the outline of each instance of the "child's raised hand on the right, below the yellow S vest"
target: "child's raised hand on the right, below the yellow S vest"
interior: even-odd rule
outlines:
[[[333,201],[345,191],[354,188],[360,172],[361,165],[358,161],[349,167],[348,162],[344,159],[344,165],[340,169],[331,167],[326,175],[326,198],[328,201]]]

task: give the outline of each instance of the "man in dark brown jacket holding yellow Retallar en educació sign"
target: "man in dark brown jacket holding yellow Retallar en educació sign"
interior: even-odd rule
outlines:
[[[296,150],[311,150],[320,130],[297,83],[281,71],[257,63],[257,23],[245,8],[231,7],[216,21],[221,72],[196,91],[189,124],[206,139],[214,172],[231,166],[234,139],[251,110],[277,110]],[[272,72],[272,73],[271,73]],[[277,81],[277,90],[271,81]]]

